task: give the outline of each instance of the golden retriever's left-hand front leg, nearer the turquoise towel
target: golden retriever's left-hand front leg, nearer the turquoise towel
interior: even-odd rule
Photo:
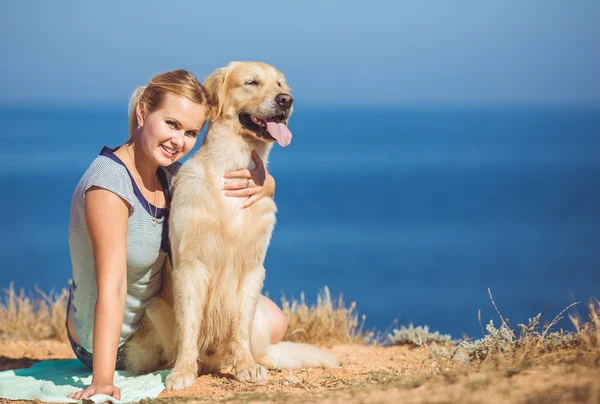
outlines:
[[[167,376],[168,390],[190,387],[198,376],[198,337],[206,301],[207,275],[207,268],[199,260],[180,260],[180,266],[173,272],[177,359]]]

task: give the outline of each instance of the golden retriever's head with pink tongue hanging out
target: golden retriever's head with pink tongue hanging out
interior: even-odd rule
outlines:
[[[240,135],[287,146],[293,99],[283,74],[260,62],[231,62],[204,83],[212,100],[211,121],[230,120]]]

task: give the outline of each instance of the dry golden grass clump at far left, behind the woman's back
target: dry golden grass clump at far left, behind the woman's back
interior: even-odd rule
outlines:
[[[11,282],[2,290],[0,300],[0,339],[67,341],[65,329],[69,292],[44,293],[35,287],[35,294],[15,291]]]

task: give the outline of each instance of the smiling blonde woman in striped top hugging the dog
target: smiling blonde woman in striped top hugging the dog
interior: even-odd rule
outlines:
[[[167,257],[169,200],[178,160],[195,145],[208,116],[204,87],[189,72],[153,77],[129,104],[129,141],[104,147],[79,181],[71,204],[69,245],[73,266],[67,332],[77,358],[92,370],[92,384],[70,398],[107,394],[123,369],[124,343],[133,335],[150,298],[160,291],[160,269]],[[254,154],[255,170],[226,174],[246,178],[228,184],[230,197],[248,198],[245,207],[272,196],[275,180]],[[275,303],[272,343],[287,322]]]

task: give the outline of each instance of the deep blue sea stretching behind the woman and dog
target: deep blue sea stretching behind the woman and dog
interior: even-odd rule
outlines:
[[[127,138],[124,109],[0,109],[0,288],[67,285],[72,192]],[[479,309],[498,323],[488,287],[514,326],[600,297],[599,110],[300,106],[290,128],[270,159],[276,301],[328,285],[368,327],[460,337]]]

